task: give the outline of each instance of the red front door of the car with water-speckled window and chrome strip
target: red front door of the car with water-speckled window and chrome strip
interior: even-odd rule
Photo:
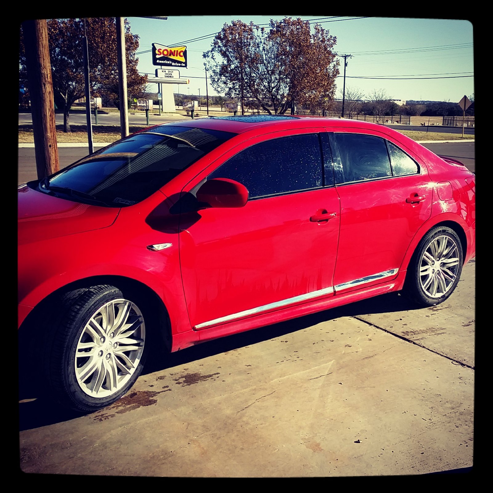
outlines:
[[[180,265],[190,322],[228,321],[331,296],[339,198],[310,129],[270,134],[223,156],[206,179],[231,178],[246,206],[180,217]],[[326,163],[327,164],[327,163]],[[194,192],[201,176],[185,187]]]

